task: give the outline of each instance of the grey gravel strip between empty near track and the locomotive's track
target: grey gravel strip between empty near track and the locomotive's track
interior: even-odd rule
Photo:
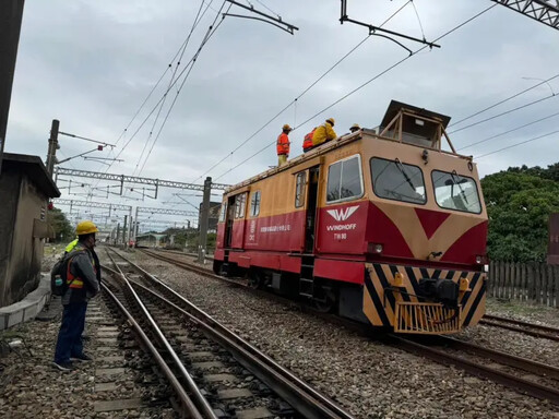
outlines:
[[[559,409],[218,280],[139,255],[192,302],[359,418],[552,418]]]

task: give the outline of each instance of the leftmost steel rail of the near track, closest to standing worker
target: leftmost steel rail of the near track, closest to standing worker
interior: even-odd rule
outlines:
[[[114,271],[115,272],[115,271]],[[115,272],[116,273],[116,272]],[[147,350],[152,354],[152,357],[155,359],[155,362],[157,362],[157,366],[159,366],[160,371],[164,373],[164,375],[167,378],[167,380],[170,382],[170,385],[175,390],[175,393],[177,394],[180,403],[189,414],[190,418],[192,419],[203,419],[204,417],[200,414],[195,405],[193,404],[192,399],[189,397],[187,392],[185,392],[185,387],[180,384],[177,376],[173,373],[169,366],[165,362],[160,354],[157,351],[153,343],[150,340],[147,335],[144,333],[140,324],[134,320],[132,314],[126,309],[124,306],[119,301],[118,297],[112,294],[110,289],[105,284],[100,285],[102,289],[109,296],[115,304],[119,308],[119,310],[124,314],[124,316],[128,319],[128,322],[132,325],[134,328],[136,335],[140,337],[142,343],[145,345]]]

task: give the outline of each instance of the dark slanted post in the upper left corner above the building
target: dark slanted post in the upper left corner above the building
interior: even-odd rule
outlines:
[[[0,173],[25,0],[0,1]]]

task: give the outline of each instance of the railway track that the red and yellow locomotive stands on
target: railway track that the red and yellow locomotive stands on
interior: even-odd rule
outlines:
[[[188,262],[179,261],[168,255],[142,251],[150,256],[169,262],[185,270],[194,271],[207,277],[238,284],[237,280],[223,278],[209,270],[201,268]],[[336,319],[336,322],[340,322],[340,320]],[[350,327],[356,327],[354,322],[352,322]],[[361,332],[364,334],[370,334],[370,330],[368,333],[362,330],[364,327],[365,325],[361,326]],[[559,369],[556,367],[445,336],[436,336],[435,339],[425,339],[425,337],[416,339],[389,334],[386,339],[400,349],[423,356],[439,363],[454,366],[473,375],[488,379],[521,393],[547,399],[559,405],[559,390],[557,390],[559,388]]]

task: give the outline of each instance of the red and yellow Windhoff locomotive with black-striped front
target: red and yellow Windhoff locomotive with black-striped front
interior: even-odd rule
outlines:
[[[485,312],[487,214],[450,118],[393,101],[376,131],[321,145],[224,195],[214,270],[399,333]]]

